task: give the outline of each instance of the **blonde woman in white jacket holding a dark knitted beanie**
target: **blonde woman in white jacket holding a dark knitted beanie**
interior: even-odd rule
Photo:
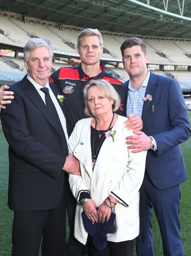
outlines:
[[[79,120],[69,138],[69,151],[81,167],[81,176],[69,177],[77,200],[74,236],[86,244],[92,256],[131,256],[139,234],[139,188],[147,153],[133,154],[127,149],[125,138],[134,134],[124,127],[126,118],[114,114],[120,98],[112,85],[93,80],[83,94],[85,113],[91,118]],[[92,222],[103,223],[112,210],[116,231],[107,234],[106,248],[98,251],[84,228],[81,213],[84,211]]]

